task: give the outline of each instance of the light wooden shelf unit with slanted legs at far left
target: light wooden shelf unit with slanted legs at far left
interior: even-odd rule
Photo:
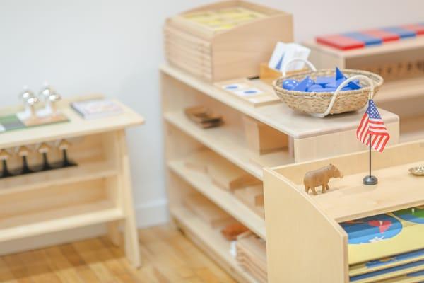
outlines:
[[[95,96],[98,98],[99,96]],[[92,97],[89,97],[92,98]],[[84,98],[75,98],[75,100]],[[122,226],[127,258],[139,267],[140,253],[132,204],[125,128],[143,118],[122,103],[122,114],[84,120],[63,100],[59,109],[69,122],[1,133],[0,149],[30,149],[30,168],[41,163],[37,144],[47,143],[49,162],[61,160],[57,141],[71,143],[68,157],[77,166],[0,178],[0,250],[19,250],[14,240],[78,227],[107,224],[113,243],[120,244]],[[15,112],[17,108],[7,110]],[[7,112],[5,111],[5,112]],[[8,168],[20,166],[13,155]]]

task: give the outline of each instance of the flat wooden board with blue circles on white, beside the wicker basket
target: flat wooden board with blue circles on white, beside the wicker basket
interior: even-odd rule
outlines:
[[[240,98],[254,107],[281,103],[280,98],[274,93],[271,85],[259,79],[233,79],[230,81],[220,81],[215,86],[223,89],[231,96]]]

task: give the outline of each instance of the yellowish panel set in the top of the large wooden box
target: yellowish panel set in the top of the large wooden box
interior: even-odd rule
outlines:
[[[263,13],[242,7],[223,8],[211,11],[198,11],[182,16],[184,20],[201,25],[210,30],[228,30],[242,23],[264,18]]]

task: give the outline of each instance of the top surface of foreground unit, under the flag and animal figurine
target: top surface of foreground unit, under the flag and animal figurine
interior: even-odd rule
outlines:
[[[408,173],[409,168],[420,164],[422,162],[376,170],[373,175],[379,178],[379,183],[375,186],[362,184],[367,172],[347,175],[331,180],[329,192],[309,197],[338,222],[422,205],[424,178]],[[303,191],[303,185],[298,189]]]

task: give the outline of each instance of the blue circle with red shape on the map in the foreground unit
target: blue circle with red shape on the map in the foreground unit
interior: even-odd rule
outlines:
[[[343,222],[350,244],[375,243],[393,238],[402,231],[401,222],[387,214]]]

